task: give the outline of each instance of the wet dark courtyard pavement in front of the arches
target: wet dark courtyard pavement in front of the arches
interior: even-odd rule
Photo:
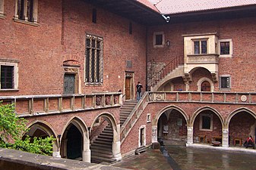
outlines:
[[[163,151],[163,149],[166,151]],[[180,141],[164,141],[160,150],[148,149],[130,156],[112,166],[129,169],[182,170],[256,170],[256,150],[245,147],[213,147],[193,144],[188,147]]]

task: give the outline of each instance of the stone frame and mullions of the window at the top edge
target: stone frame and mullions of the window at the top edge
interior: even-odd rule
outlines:
[[[28,20],[27,18],[27,1],[24,1],[24,20],[19,19],[18,16],[18,1],[15,0],[15,14],[14,14],[14,21],[18,23],[26,23],[32,26],[39,26],[38,25],[38,0],[33,0],[33,21]]]

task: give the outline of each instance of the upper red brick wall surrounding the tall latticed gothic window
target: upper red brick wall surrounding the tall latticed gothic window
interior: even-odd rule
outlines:
[[[62,2],[64,9],[62,15]],[[18,89],[0,95],[62,94],[63,62],[77,60],[81,65],[81,92],[124,91],[125,71],[134,72],[134,82],[145,85],[146,29],[123,17],[97,9],[92,23],[92,5],[83,1],[39,1],[39,26],[14,22],[14,1],[5,1],[6,19],[0,19],[0,57],[19,60]],[[63,22],[62,22],[63,19]],[[103,85],[85,86],[85,34],[103,37]],[[132,67],[126,68],[126,60]],[[108,78],[107,78],[108,76]]]

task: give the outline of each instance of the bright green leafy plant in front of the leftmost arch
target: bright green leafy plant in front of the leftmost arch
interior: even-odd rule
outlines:
[[[14,104],[2,104],[0,101],[0,147],[23,150],[30,153],[52,155],[52,136],[31,138],[26,135],[27,120],[19,118],[14,112]],[[25,138],[23,139],[25,135]]]

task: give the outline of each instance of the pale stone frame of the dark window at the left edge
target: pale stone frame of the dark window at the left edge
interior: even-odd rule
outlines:
[[[14,78],[13,78],[14,88],[2,89],[0,84],[0,91],[18,91],[18,66],[17,66],[18,63],[19,63],[18,60],[0,59],[0,70],[1,70],[1,66],[14,66]]]

